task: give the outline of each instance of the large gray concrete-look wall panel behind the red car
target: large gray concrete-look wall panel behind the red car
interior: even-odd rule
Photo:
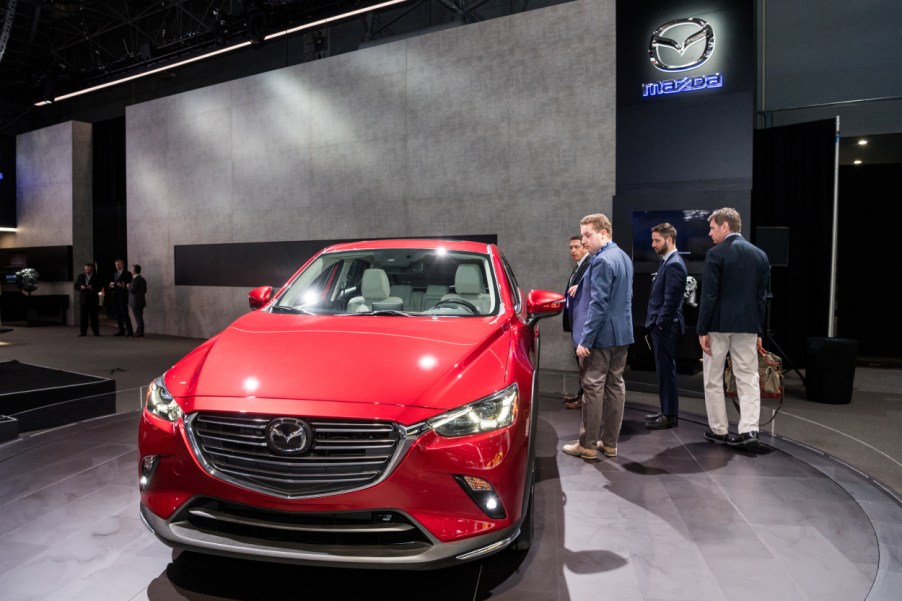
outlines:
[[[176,287],[177,244],[498,234],[524,289],[562,289],[578,220],[611,213],[614,25],[613,0],[577,0],[129,107],[148,331],[247,310]],[[573,369],[543,332],[544,366]]]

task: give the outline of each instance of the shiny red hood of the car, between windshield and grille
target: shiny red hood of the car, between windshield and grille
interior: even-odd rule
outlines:
[[[336,403],[444,410],[506,386],[509,347],[510,328],[499,317],[257,311],[182,359],[166,385],[188,411],[216,408],[211,399],[243,399],[248,411],[263,400],[307,401],[305,411],[328,402],[333,413]]]

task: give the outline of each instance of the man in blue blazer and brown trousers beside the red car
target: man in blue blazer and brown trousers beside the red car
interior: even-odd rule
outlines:
[[[605,215],[587,215],[579,225],[592,255],[573,297],[573,344],[579,357],[583,414],[579,440],[565,444],[563,451],[593,460],[599,449],[607,457],[617,456],[626,402],[623,370],[633,343],[633,263],[611,240],[611,222]]]

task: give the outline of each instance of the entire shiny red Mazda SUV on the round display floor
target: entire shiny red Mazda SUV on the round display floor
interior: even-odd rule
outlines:
[[[322,250],[150,385],[141,516],[167,545],[427,569],[532,536],[536,322],[495,245]]]

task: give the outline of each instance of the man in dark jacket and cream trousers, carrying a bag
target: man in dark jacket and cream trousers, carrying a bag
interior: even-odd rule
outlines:
[[[705,256],[698,311],[698,341],[705,382],[705,406],[711,429],[705,439],[733,447],[758,444],[761,391],[758,353],[762,352],[764,314],[770,268],[763,250],[739,233],[742,220],[735,209],[714,211],[708,220],[714,247]],[[738,434],[729,432],[723,390],[727,353],[739,396]]]

